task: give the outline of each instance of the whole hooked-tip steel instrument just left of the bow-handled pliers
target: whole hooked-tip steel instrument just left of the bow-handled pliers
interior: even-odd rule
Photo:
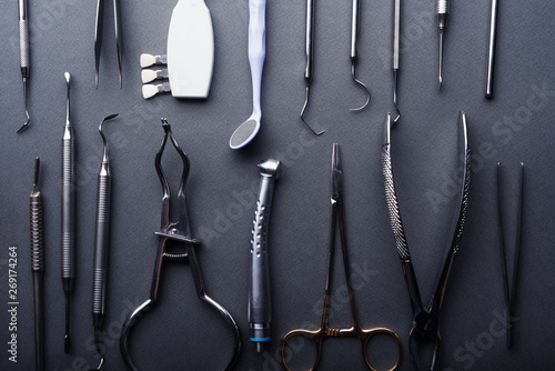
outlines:
[[[100,370],[104,363],[104,351],[100,347],[100,337],[104,323],[105,291],[108,280],[108,250],[110,247],[110,210],[112,198],[112,174],[110,171],[110,157],[108,141],[102,132],[102,124],[115,118],[118,113],[102,119],[99,126],[100,137],[104,151],[99,171],[99,186],[97,191],[97,230],[94,234],[94,267],[92,270],[92,325],[94,329],[94,347],[100,355]]]

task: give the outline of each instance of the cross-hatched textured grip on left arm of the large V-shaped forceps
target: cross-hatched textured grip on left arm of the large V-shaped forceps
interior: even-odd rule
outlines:
[[[387,209],[390,210],[390,222],[393,234],[395,235],[397,253],[401,259],[408,259],[411,258],[411,254],[406,244],[405,231],[403,229],[403,222],[401,220],[401,212],[398,211],[398,202],[397,195],[395,193],[395,184],[393,182],[393,171],[391,167],[389,146],[384,146],[382,149],[382,170],[385,186],[385,198],[387,199]]]

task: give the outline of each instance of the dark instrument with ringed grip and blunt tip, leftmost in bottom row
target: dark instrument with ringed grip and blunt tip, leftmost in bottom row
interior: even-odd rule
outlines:
[[[39,191],[40,159],[34,159],[33,190],[29,208],[31,215],[31,272],[33,275],[34,364],[44,370],[44,223],[42,194]]]

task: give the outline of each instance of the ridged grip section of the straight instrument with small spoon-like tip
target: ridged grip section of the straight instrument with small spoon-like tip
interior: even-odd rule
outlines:
[[[62,141],[62,278],[75,272],[75,184],[73,139]]]

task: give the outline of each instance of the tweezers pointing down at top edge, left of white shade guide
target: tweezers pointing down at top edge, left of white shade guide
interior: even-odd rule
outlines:
[[[118,53],[118,68],[120,71],[120,89],[122,88],[122,76],[121,76],[121,7],[120,0],[112,0],[113,2],[113,28],[115,37],[115,51]],[[99,88],[99,67],[100,67],[100,54],[102,52],[102,36],[104,33],[104,0],[98,0],[97,2],[97,26],[94,28],[94,84]]]

